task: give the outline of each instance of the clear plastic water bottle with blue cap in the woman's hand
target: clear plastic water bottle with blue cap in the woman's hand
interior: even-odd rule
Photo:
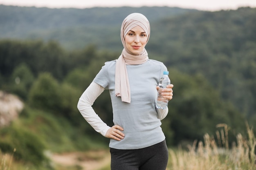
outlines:
[[[158,84],[159,89],[157,93],[157,108],[165,109],[168,105],[168,99],[164,98],[161,94],[162,90],[166,88],[168,84],[171,84],[171,80],[169,79],[168,75],[169,75],[169,72],[164,71],[164,75],[159,81],[159,84]]]

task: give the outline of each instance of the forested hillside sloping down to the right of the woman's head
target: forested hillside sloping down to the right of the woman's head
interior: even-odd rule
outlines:
[[[146,48],[166,55],[168,67],[204,75],[222,99],[249,118],[255,113],[255,20],[252,8],[163,18],[151,24],[155,37]]]

